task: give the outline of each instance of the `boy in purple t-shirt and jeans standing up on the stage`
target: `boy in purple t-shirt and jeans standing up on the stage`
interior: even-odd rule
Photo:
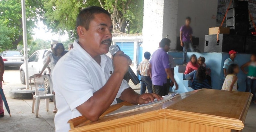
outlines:
[[[183,48],[183,65],[187,65],[187,52],[188,48],[191,52],[194,52],[194,48],[192,45],[192,34],[193,30],[189,26],[191,23],[191,18],[187,17],[185,21],[185,25],[180,27],[180,46]]]

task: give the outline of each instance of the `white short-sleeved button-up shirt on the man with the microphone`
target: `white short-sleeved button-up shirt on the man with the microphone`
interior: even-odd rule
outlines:
[[[74,49],[64,55],[52,73],[58,112],[54,123],[56,132],[68,132],[68,120],[81,116],[76,107],[83,104],[93,93],[102,88],[113,72],[112,59],[101,55],[100,65],[74,41]],[[130,86],[123,80],[116,97]],[[112,105],[116,104],[116,99]],[[99,106],[100,107],[100,106]]]

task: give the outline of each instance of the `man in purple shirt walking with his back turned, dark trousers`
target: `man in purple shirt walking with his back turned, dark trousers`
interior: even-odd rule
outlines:
[[[169,65],[169,57],[166,52],[170,49],[171,40],[163,38],[159,43],[159,49],[156,50],[149,62],[149,75],[152,80],[153,92],[164,96],[168,95],[167,91],[167,75],[172,79],[178,89],[178,85],[173,77],[172,71]]]

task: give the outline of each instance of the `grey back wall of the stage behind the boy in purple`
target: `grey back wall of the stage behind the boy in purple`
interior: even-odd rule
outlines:
[[[204,35],[208,35],[209,27],[216,26],[216,19],[212,16],[217,15],[217,6],[217,0],[179,0],[176,39],[185,18],[189,16],[192,20],[193,36],[199,37],[200,50],[204,51]]]

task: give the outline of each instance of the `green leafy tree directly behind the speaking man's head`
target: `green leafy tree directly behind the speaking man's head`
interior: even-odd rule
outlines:
[[[89,6],[101,6],[111,14],[114,33],[141,33],[143,25],[143,0],[45,0],[44,23],[52,32],[68,33],[76,39],[76,17]]]

